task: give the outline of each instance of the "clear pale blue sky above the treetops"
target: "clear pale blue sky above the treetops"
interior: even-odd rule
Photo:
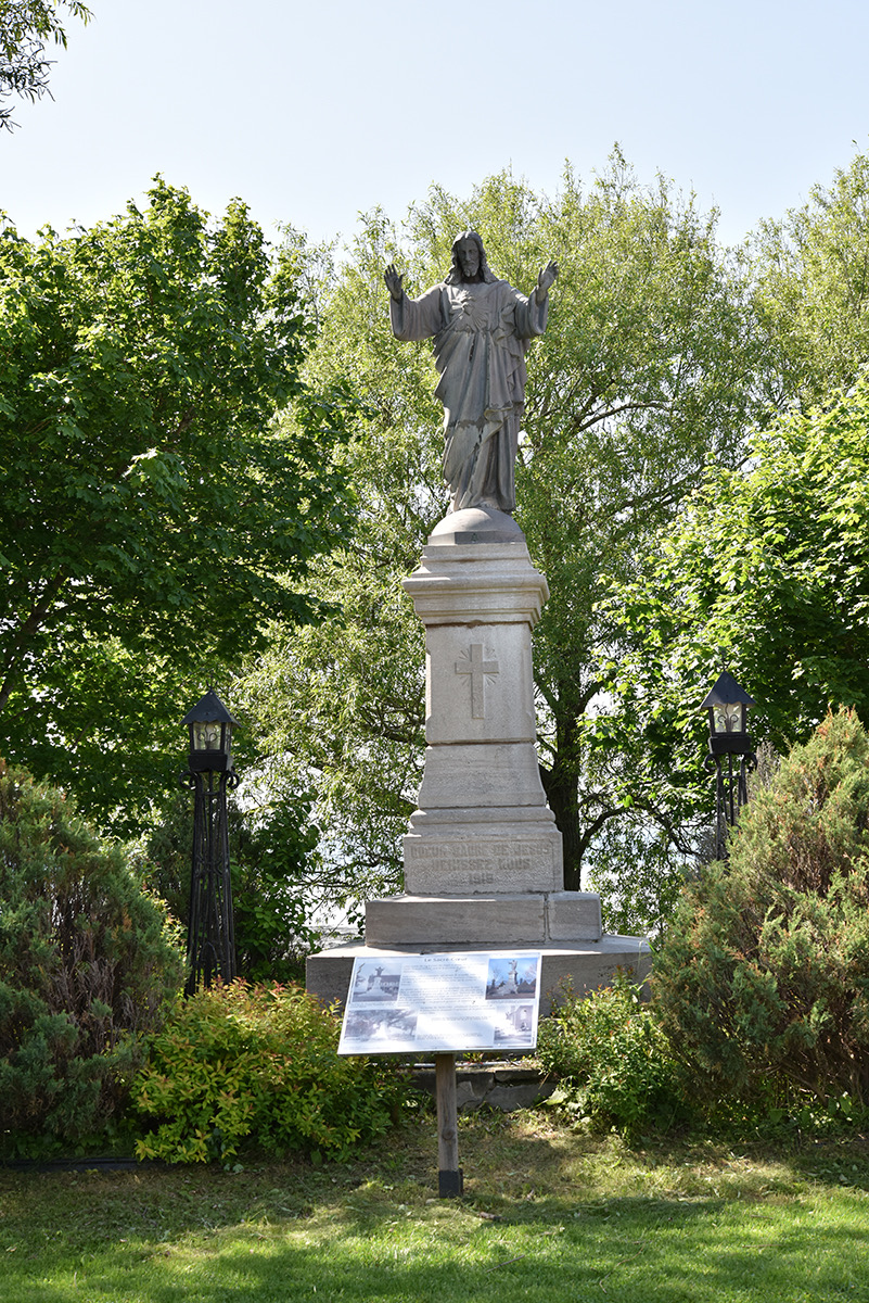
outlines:
[[[0,134],[22,233],[122,211],[163,172],[267,231],[351,236],[437,181],[503,167],[546,192],[614,141],[739,240],[869,151],[866,0],[88,0],[55,102]],[[856,145],[853,143],[856,142]]]

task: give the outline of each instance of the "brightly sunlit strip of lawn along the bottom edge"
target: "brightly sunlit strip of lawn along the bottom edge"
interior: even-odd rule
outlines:
[[[66,1265],[47,1287],[20,1270],[0,1286],[16,1303],[705,1303],[865,1298],[869,1224],[826,1224],[804,1208],[745,1209],[705,1200],[613,1200],[580,1212],[549,1201],[520,1220],[481,1224],[462,1207],[395,1208],[372,1217],[336,1209],[310,1233],[286,1225],[226,1227],[167,1247],[131,1246]],[[554,1212],[565,1218],[553,1220]],[[120,1247],[118,1247],[120,1248]],[[46,1283],[43,1283],[46,1282]]]

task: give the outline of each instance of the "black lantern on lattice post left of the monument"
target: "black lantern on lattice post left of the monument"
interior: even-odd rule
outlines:
[[[187,929],[187,984],[193,995],[199,984],[235,976],[235,929],[229,880],[226,788],[238,786],[232,762],[235,719],[211,688],[182,723],[190,728],[187,773],[181,782],[194,791],[193,861],[190,868],[190,921]]]

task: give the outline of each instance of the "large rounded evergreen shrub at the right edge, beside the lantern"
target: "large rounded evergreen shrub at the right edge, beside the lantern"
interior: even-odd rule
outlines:
[[[829,715],[688,883],[654,1003],[697,1089],[869,1104],[869,736]]]

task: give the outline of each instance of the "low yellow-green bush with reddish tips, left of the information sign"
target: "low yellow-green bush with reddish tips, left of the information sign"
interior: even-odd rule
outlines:
[[[135,1101],[140,1158],[229,1162],[250,1139],[272,1154],[349,1154],[381,1136],[403,1097],[394,1070],[338,1058],[334,1015],[294,986],[202,990],[151,1041]]]

